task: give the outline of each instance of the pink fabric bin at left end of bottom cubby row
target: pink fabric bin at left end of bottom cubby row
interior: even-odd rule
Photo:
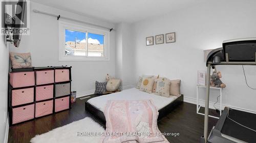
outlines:
[[[12,124],[24,122],[34,118],[35,104],[12,109]]]

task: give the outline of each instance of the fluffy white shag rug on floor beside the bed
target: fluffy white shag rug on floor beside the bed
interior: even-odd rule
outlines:
[[[86,117],[47,133],[36,135],[30,141],[32,143],[94,143],[102,138],[102,136],[77,135],[78,132],[102,133],[104,128],[93,119]]]

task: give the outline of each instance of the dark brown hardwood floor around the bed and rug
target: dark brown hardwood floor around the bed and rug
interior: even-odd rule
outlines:
[[[91,96],[94,97],[94,95]],[[91,117],[96,120],[89,112],[84,110],[84,102],[88,99],[77,99],[71,105],[72,108],[70,110],[11,126],[9,128],[8,142],[30,142],[30,139],[37,134],[46,133],[85,117]],[[209,118],[209,131],[216,122],[217,119]],[[168,116],[159,121],[158,127],[161,132],[175,132],[180,134],[176,137],[166,136],[171,143],[196,143],[199,142],[200,136],[203,134],[204,116],[196,113],[196,105],[184,102],[170,112]]]

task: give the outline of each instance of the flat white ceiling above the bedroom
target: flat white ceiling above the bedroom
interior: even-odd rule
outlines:
[[[113,23],[133,23],[168,13],[203,0],[32,0],[33,2],[103,19]]]

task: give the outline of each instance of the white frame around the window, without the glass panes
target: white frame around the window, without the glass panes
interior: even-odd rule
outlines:
[[[102,30],[100,28],[92,28],[78,24],[71,24],[70,22],[58,20],[59,26],[59,61],[109,61],[110,60],[110,31]],[[84,33],[93,33],[104,35],[104,56],[78,56],[78,55],[66,55],[65,54],[65,30],[72,30]],[[88,40],[88,34],[87,34]],[[88,48],[88,46],[87,46]],[[88,54],[88,53],[87,53]]]

